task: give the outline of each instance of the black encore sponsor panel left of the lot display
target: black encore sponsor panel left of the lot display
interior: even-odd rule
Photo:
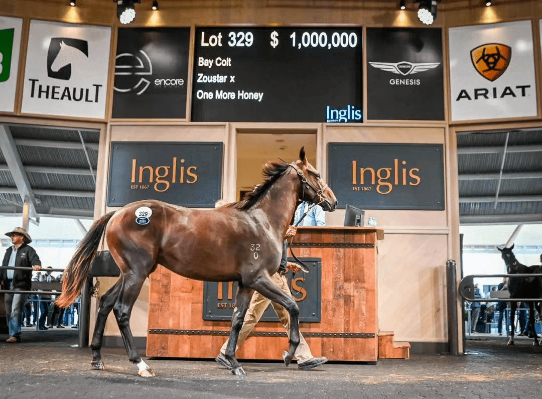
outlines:
[[[134,87],[141,78],[149,80],[150,85],[140,95],[136,94],[138,89],[114,91],[113,118],[185,118],[189,48],[190,28],[120,28],[117,55],[139,55],[139,50],[143,50],[151,60],[152,75],[115,75],[117,88]],[[119,61],[125,65],[128,59],[122,57]],[[138,70],[141,68],[127,69]],[[115,68],[115,72],[119,69]],[[184,85],[154,85],[155,79],[162,78],[184,79]]]

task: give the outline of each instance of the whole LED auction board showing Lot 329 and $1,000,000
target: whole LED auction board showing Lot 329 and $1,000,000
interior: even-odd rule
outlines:
[[[361,28],[197,28],[192,121],[360,123]]]

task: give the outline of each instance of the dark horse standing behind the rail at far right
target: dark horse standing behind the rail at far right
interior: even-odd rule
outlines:
[[[499,248],[497,249],[501,252],[502,259],[504,259],[506,264],[506,272],[507,274],[533,274],[533,273],[541,273],[542,268],[540,266],[525,266],[522,263],[518,262],[518,260],[515,258],[514,253],[512,252],[512,249],[514,249],[514,246],[510,248]],[[527,301],[527,305],[529,306],[529,321],[527,325],[527,330],[529,330],[529,327],[532,328],[532,331],[534,332],[534,343],[533,345],[540,345],[538,342],[538,335],[537,331],[534,328],[534,307],[537,308],[538,314],[540,313],[540,301],[539,299],[542,298],[540,295],[542,294],[542,278],[540,277],[509,277],[508,278],[508,292],[510,293],[510,298],[526,298],[526,299],[537,299],[536,301]],[[511,301],[510,302],[511,307],[511,313],[510,313],[510,326],[511,326],[511,332],[510,332],[510,339],[508,340],[508,345],[514,345],[514,316],[515,316],[515,310],[518,307],[517,301]],[[508,327],[506,327],[508,328]]]

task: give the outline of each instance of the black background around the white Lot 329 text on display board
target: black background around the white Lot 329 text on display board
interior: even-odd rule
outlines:
[[[279,33],[279,46],[270,46],[270,34]],[[222,47],[202,47],[205,37],[222,33]],[[251,31],[251,47],[230,47],[230,31]],[[304,31],[356,33],[356,48],[292,47]],[[231,67],[198,67],[198,57],[231,57]],[[362,110],[362,30],[360,28],[198,28],[192,83],[192,121],[325,122],[326,106],[347,105]],[[197,83],[197,74],[235,75],[235,83]],[[228,79],[229,81],[229,79]],[[249,100],[198,100],[196,92],[216,89],[263,92],[261,102]],[[362,119],[359,122],[363,121]]]

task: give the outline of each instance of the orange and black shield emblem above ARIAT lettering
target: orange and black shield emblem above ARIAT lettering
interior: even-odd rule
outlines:
[[[492,82],[505,73],[511,57],[512,48],[506,44],[488,43],[470,50],[470,60],[476,72]]]

